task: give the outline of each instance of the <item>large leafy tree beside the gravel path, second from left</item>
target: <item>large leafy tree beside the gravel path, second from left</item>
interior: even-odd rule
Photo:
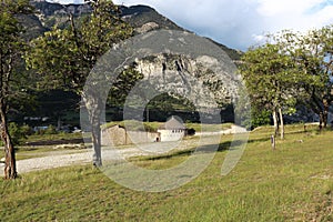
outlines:
[[[98,59],[114,43],[131,37],[133,29],[120,18],[120,10],[112,1],[85,0],[85,3],[92,8],[90,17],[75,20],[69,12],[68,28],[54,27],[32,41],[26,61],[28,68],[43,77],[41,88],[65,88],[82,94],[93,125],[93,164],[99,167],[102,164],[100,114],[103,103],[99,97],[91,98],[82,89]]]

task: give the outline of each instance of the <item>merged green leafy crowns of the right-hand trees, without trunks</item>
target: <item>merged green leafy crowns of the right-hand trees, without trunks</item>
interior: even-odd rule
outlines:
[[[242,57],[241,73],[258,110],[294,113],[296,103],[325,113],[333,101],[333,26],[307,34],[289,30],[268,38]]]

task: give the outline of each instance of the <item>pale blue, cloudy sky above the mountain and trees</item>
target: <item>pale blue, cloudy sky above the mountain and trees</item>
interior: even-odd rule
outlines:
[[[83,0],[58,0],[80,3]],[[306,32],[333,24],[333,0],[113,0],[145,4],[182,28],[233,49],[246,50],[268,33]]]

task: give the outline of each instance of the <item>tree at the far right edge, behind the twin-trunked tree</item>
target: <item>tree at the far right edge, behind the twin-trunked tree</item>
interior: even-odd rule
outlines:
[[[314,80],[302,84],[306,93],[303,103],[319,114],[320,129],[326,128],[329,107],[333,101],[333,26],[300,36],[292,56],[303,74]]]

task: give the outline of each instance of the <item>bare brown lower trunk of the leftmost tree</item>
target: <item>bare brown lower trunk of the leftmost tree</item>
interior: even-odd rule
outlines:
[[[0,118],[1,118],[1,139],[4,144],[4,179],[16,179],[17,173],[17,161],[16,161],[16,151],[11,142],[11,138],[8,131],[8,122],[6,117],[6,108],[3,104],[0,104]]]

